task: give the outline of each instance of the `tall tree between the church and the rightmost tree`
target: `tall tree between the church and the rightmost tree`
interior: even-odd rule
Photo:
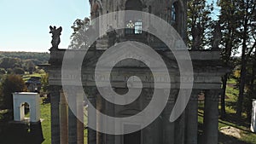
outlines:
[[[218,3],[220,9],[219,23],[222,26],[222,41],[220,48],[222,49],[222,60],[225,66],[234,68],[233,55],[236,54],[239,47],[240,39],[237,37],[237,8],[234,0],[220,0]],[[221,118],[225,117],[225,93],[227,80],[230,77],[230,73],[226,73],[222,78],[222,95],[221,95]]]

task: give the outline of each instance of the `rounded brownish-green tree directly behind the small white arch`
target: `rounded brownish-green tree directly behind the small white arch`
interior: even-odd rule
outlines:
[[[1,84],[1,107],[4,109],[13,109],[12,93],[26,91],[26,84],[19,75],[7,75],[3,78]]]

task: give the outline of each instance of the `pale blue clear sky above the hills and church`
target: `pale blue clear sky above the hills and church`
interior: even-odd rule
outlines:
[[[49,26],[62,26],[67,49],[73,22],[88,16],[89,0],[0,0],[0,51],[49,52]]]

